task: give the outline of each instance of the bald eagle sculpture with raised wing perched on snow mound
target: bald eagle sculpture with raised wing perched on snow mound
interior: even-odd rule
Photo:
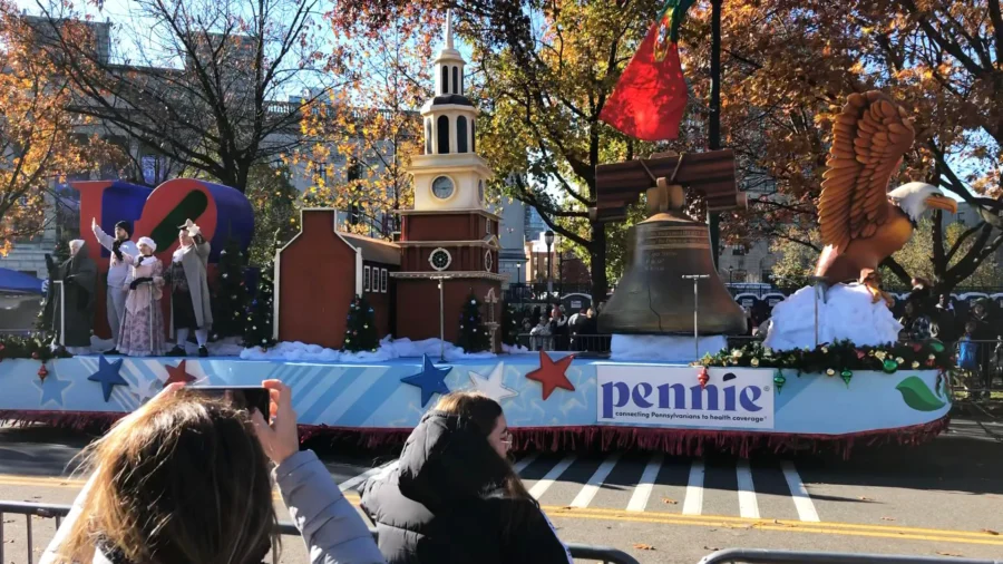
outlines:
[[[913,182],[888,189],[913,146],[906,111],[883,93],[851,94],[836,118],[818,201],[825,249],[815,275],[828,284],[856,281],[902,249],[927,208],[957,212],[936,186]]]

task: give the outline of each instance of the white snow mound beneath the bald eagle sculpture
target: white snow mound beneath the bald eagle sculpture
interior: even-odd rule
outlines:
[[[861,284],[837,284],[818,300],[818,343],[850,340],[878,346],[898,340],[902,324],[883,300],[873,302]],[[805,286],[773,307],[763,346],[775,350],[814,349],[815,288]]]

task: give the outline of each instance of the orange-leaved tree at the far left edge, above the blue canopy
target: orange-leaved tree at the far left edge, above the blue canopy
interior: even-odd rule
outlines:
[[[70,87],[29,43],[17,7],[0,0],[0,255],[42,233],[53,217],[53,185],[108,157],[79,132]]]

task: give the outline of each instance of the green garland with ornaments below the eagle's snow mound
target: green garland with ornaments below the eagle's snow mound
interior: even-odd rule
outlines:
[[[906,370],[947,371],[955,368],[954,352],[944,344],[889,343],[880,347],[858,347],[850,341],[820,344],[815,349],[775,351],[751,342],[737,349],[722,349],[708,354],[698,364],[704,367],[749,367],[797,370],[801,373],[837,376],[845,371],[877,370],[888,373]]]

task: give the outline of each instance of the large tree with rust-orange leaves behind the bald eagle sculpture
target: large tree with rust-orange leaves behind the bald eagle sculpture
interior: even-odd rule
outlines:
[[[788,239],[811,245],[832,120],[851,93],[882,89],[915,123],[914,150],[892,187],[912,181],[987,208],[1003,194],[1003,16],[999,0],[751,0],[723,11],[722,129],[747,187],[762,198],[724,221],[739,243]],[[691,12],[683,35],[694,93],[704,97],[710,13]],[[984,200],[976,200],[984,197]],[[931,230],[938,291],[968,279],[1003,244],[990,223],[946,236]],[[903,282],[911,275],[893,257]]]

